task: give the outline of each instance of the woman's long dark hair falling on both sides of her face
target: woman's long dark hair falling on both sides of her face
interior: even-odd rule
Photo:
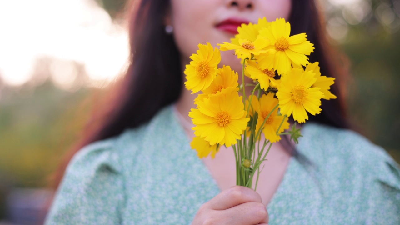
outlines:
[[[182,90],[180,54],[171,35],[164,31],[168,0],[138,0],[129,17],[131,64],[118,82],[109,102],[92,117],[85,137],[71,149],[56,174],[58,186],[66,165],[81,147],[114,137],[127,128],[138,127],[164,106],[176,101]],[[322,112],[310,121],[339,128],[348,128],[344,105],[346,71],[334,52],[324,30],[323,19],[315,0],[293,0],[289,21],[292,34],[306,32],[315,50],[310,62],[320,62],[321,73],[336,78],[331,92],[336,100],[322,100]],[[328,58],[329,57],[329,58]],[[157,91],[149,91],[157,87]]]

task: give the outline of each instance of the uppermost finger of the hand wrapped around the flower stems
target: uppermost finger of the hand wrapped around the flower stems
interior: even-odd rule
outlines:
[[[222,191],[208,201],[208,207],[214,210],[224,210],[247,202],[262,203],[261,196],[248,187],[234,186]],[[265,206],[264,206],[265,208]]]

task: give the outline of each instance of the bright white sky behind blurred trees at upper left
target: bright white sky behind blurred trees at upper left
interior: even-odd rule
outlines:
[[[6,84],[24,84],[38,58],[54,58],[51,78],[72,84],[83,64],[93,81],[120,74],[128,57],[124,28],[94,0],[0,1],[0,76]]]

